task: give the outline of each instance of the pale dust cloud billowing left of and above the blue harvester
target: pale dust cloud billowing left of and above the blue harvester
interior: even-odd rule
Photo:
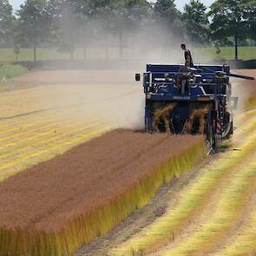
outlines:
[[[72,21],[69,15],[63,17],[67,20],[59,24],[60,29],[66,35],[65,43],[71,45]],[[25,75],[18,81],[50,87],[49,91],[42,91],[34,104],[43,104],[45,109],[62,108],[67,120],[70,116],[79,121],[86,115],[95,115],[116,128],[140,129],[145,97],[142,83],[135,82],[135,73],[143,73],[147,63],[184,62],[182,36],[163,28],[159,24],[120,36],[102,30],[102,21],[95,21],[89,30],[102,30],[102,36],[95,37],[85,29],[80,35],[81,43],[73,45],[71,57],[84,59],[81,68],[75,60],[62,61],[61,66],[60,62],[51,63],[44,67],[51,70]],[[185,43],[193,52],[193,45]],[[203,56],[194,56],[194,62],[203,61]],[[67,62],[65,70],[63,62]]]

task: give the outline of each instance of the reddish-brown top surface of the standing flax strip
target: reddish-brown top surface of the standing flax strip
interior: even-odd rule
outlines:
[[[74,217],[115,200],[201,140],[116,129],[1,182],[0,226],[62,230]]]

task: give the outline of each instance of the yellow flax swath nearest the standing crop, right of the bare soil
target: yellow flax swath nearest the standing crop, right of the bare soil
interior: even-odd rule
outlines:
[[[123,245],[115,248],[111,255],[132,255],[141,249],[151,252],[164,246],[169,239],[182,230],[186,221],[193,217],[204,206],[204,201],[214,187],[235,167],[256,149],[256,135],[252,135],[248,141],[240,147],[241,151],[228,152],[220,160],[214,161],[206,172],[200,177],[193,187],[189,187],[182,195],[180,203],[167,211],[163,217],[146,227],[141,233],[128,240]]]

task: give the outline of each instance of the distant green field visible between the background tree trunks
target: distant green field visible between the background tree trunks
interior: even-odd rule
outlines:
[[[151,52],[151,53],[150,53]],[[154,49],[154,56],[161,56],[162,51],[156,53],[156,49]],[[193,49],[195,62],[202,62],[209,59],[216,59],[218,56],[216,55],[216,49],[214,47],[210,48],[195,48]],[[152,50],[146,49],[124,49],[125,59],[135,59],[135,56],[139,59],[141,54],[143,55],[142,59],[145,57],[150,59],[154,58],[152,56]],[[167,58],[166,54],[169,56]],[[15,62],[16,56],[13,53],[12,49],[0,49],[0,62]],[[183,62],[182,58],[177,58],[177,54],[175,51],[167,50],[164,57],[165,59],[172,59],[172,62]],[[234,59],[234,48],[233,47],[221,47],[220,48],[220,57],[226,60]],[[106,58],[106,53],[104,49],[94,49],[90,48],[87,50],[87,60],[103,60]],[[108,49],[108,58],[109,59],[118,59],[119,58],[119,49]],[[70,55],[67,52],[60,52],[56,49],[37,49],[37,60],[45,61],[45,60],[69,60]],[[82,49],[75,49],[74,53],[75,60],[83,59]],[[241,60],[252,60],[256,59],[256,47],[240,47],[239,48],[239,59]],[[154,59],[153,59],[154,60]],[[33,50],[32,49],[21,49],[21,52],[18,56],[18,61],[33,61]],[[151,60],[152,62],[152,60]]]

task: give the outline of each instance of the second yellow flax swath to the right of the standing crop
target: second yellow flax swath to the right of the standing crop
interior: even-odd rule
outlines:
[[[255,159],[256,155],[252,156]],[[167,255],[206,255],[225,239],[226,233],[240,221],[246,204],[256,188],[256,161],[246,159],[236,168],[229,184],[220,194],[220,199],[207,222],[196,228],[186,240],[173,249],[161,253]]]

